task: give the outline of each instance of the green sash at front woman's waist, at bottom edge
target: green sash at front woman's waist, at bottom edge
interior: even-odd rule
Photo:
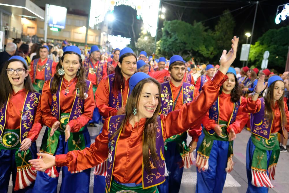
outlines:
[[[107,186],[105,187],[105,192],[108,192]],[[112,180],[110,193],[158,193],[158,188],[156,186],[142,189],[142,185],[136,187],[127,187],[124,185],[120,185]]]

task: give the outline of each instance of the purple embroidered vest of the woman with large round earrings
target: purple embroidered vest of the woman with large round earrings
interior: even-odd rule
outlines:
[[[53,78],[51,78],[50,80],[50,87],[52,86],[52,80]],[[51,102],[51,107],[50,107],[52,116],[55,117],[57,120],[60,120],[60,91],[62,87],[62,81],[63,79],[59,82],[58,90],[56,91],[56,93],[52,94],[52,102]],[[87,90],[90,86],[90,83],[91,83],[90,81],[86,80]],[[81,116],[82,114],[81,112],[83,112],[82,111],[83,104],[84,104],[84,100],[80,99],[77,96],[77,90],[76,90],[75,98],[74,98],[70,115],[69,115],[69,121],[77,119],[78,117]]]

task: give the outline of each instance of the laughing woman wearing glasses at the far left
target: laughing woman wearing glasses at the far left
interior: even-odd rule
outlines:
[[[40,93],[32,86],[24,58],[12,56],[3,69],[0,75],[0,190],[8,192],[12,173],[14,191],[29,192],[36,171],[28,160],[36,158],[35,140],[42,128]]]

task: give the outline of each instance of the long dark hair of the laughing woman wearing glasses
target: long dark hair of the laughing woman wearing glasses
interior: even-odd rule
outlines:
[[[1,71],[1,74],[0,74],[0,82],[1,82],[0,107],[8,100],[9,94],[12,94],[12,92],[13,92],[12,84],[10,83],[10,81],[8,79],[6,69],[10,63],[15,62],[15,61],[21,62],[23,64],[25,71],[28,70],[27,65],[25,63],[23,63],[21,60],[11,59],[11,60],[8,60],[7,62],[5,62],[3,69]],[[27,77],[25,77],[25,79],[24,79],[24,87],[26,90],[28,90],[30,92],[35,92],[34,87],[32,85],[32,82],[31,82],[31,78],[29,75]]]

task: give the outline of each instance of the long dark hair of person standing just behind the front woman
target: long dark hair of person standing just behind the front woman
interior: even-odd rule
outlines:
[[[123,63],[123,58],[127,56],[134,56],[137,60],[137,57],[134,53],[125,53],[119,58],[119,63]],[[121,68],[116,65],[115,67],[115,77],[112,82],[112,92],[114,95],[117,95],[117,92],[121,90],[121,88],[125,87],[125,79],[123,78],[123,74],[121,73]]]

